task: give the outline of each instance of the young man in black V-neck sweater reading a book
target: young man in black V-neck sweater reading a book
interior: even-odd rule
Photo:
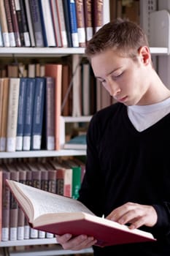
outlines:
[[[170,91],[152,67],[142,29],[115,20],[90,40],[94,75],[117,103],[98,111],[88,129],[79,200],[94,214],[157,241],[100,248],[95,238],[57,236],[64,249],[93,246],[94,255],[170,255]]]

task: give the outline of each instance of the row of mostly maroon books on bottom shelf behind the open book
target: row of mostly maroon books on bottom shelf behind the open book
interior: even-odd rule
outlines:
[[[32,229],[28,226],[23,210],[9,192],[6,179],[19,181],[31,187],[58,195],[77,199],[85,163],[76,158],[43,159],[0,164],[0,241],[15,241],[29,238],[53,238],[53,234]]]

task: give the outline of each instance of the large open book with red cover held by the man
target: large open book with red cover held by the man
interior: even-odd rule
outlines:
[[[70,197],[55,195],[41,189],[6,180],[12,194],[37,230],[74,236],[85,234],[97,239],[98,246],[154,241],[151,233],[130,230],[109,219],[96,217],[86,206]]]

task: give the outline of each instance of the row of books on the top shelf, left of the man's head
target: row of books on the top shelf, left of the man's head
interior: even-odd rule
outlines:
[[[1,0],[1,47],[85,47],[103,25],[103,0]]]

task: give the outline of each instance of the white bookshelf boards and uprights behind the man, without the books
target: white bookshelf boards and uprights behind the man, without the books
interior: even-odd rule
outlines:
[[[104,23],[107,23],[109,21],[109,0],[104,0]],[[153,56],[168,56],[169,55],[169,49],[168,48],[155,48],[150,47],[150,51]],[[80,55],[83,56],[85,53],[85,48],[0,48],[0,56],[2,57],[50,57],[50,58],[57,58],[61,56],[68,56],[72,55],[72,61],[74,61],[75,56]],[[69,122],[81,122],[81,121],[90,121],[91,116],[80,116],[80,117],[61,117],[62,118],[62,135],[61,138],[64,137],[65,134],[65,125]],[[63,139],[62,139],[63,140]],[[63,150],[60,151],[16,151],[16,152],[0,152],[0,159],[16,159],[16,158],[32,158],[32,157],[63,157],[63,156],[82,156],[85,155],[86,152],[84,150],[77,151],[77,150]],[[28,239],[23,241],[1,241],[0,247],[10,247],[10,246],[31,246],[31,245],[45,245],[45,244],[56,244],[55,238],[45,238],[45,239]],[[48,249],[47,251],[40,252],[12,252],[10,255],[71,255],[76,253],[88,253],[93,252],[93,250],[85,249],[81,252],[72,252],[69,250],[63,250],[58,247],[58,249],[55,249],[55,252],[53,249]],[[45,253],[45,254],[43,254]]]

